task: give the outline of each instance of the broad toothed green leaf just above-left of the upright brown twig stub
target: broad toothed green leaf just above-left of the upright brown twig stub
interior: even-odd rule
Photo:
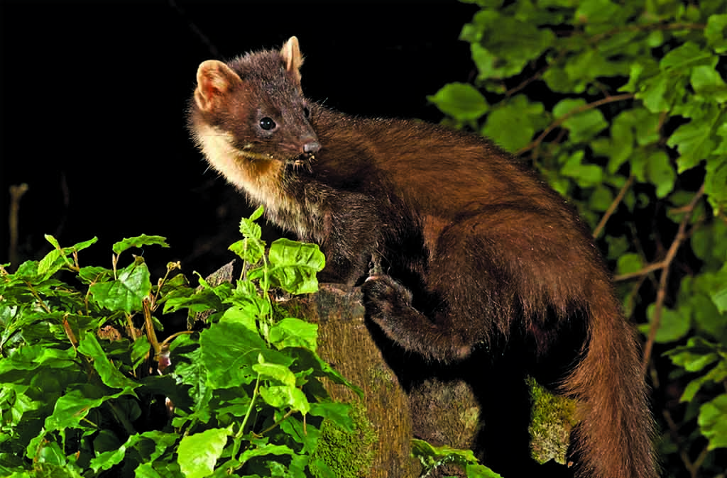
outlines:
[[[143,262],[134,262],[119,271],[118,279],[92,284],[89,290],[101,307],[127,314],[139,311],[151,292],[149,269]]]

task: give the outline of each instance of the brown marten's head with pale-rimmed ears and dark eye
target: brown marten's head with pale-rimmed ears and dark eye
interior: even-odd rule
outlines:
[[[300,88],[302,62],[293,36],[280,51],[199,65],[189,127],[214,169],[238,183],[234,173],[249,169],[245,163],[258,169],[309,164],[320,145]],[[270,161],[278,164],[262,164]]]

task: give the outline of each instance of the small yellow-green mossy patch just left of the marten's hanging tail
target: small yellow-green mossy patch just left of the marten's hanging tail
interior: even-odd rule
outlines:
[[[551,393],[534,378],[527,378],[527,383],[531,399],[531,455],[538,463],[552,459],[565,464],[571,429],[577,424],[576,402]]]

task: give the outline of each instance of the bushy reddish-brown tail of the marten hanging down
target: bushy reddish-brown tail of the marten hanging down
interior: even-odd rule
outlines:
[[[579,478],[658,476],[635,331],[624,320],[610,285],[590,297],[585,357],[563,383],[579,400],[576,438]]]

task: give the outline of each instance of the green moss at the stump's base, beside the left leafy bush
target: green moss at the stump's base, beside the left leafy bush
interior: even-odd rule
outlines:
[[[369,476],[374,460],[374,443],[378,435],[366,418],[366,408],[360,401],[351,406],[350,416],[356,427],[346,432],[332,421],[321,424],[318,447],[310,456],[310,471],[316,478],[361,478]]]

